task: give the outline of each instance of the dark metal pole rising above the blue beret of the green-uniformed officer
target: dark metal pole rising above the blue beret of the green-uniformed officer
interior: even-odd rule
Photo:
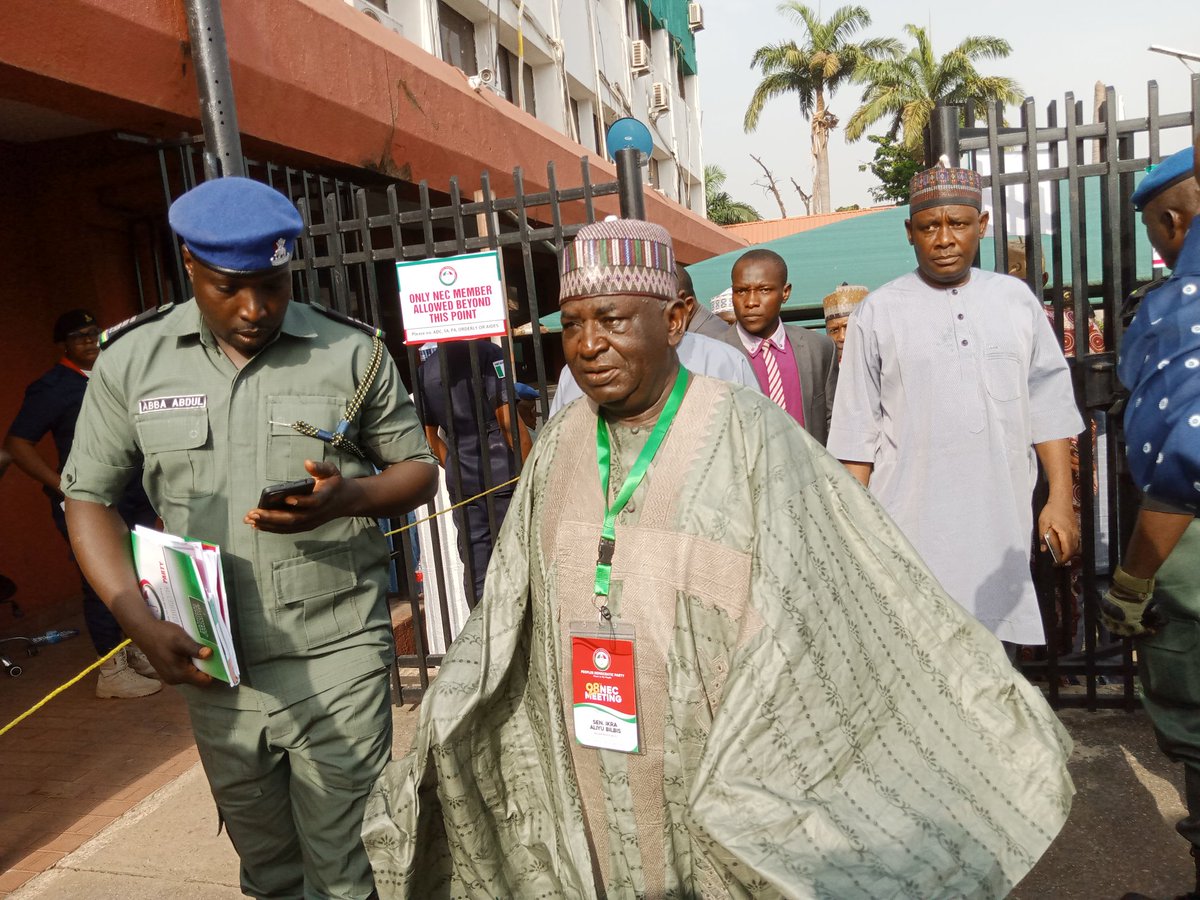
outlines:
[[[185,0],[204,128],[204,178],[245,175],[221,0]]]

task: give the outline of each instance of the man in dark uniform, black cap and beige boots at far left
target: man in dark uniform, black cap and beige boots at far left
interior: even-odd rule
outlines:
[[[62,356],[50,371],[25,389],[25,400],[5,438],[5,450],[17,468],[42,485],[42,492],[50,500],[54,527],[67,542],[60,473],[71,452],[88,376],[100,355],[98,338],[100,328],[86,310],[71,310],[59,316],[54,323],[54,342],[62,348]],[[53,438],[58,452],[58,466],[53,468],[37,452],[37,443],[47,434]],[[131,527],[151,526],[157,518],[140,482],[130,485],[118,510]],[[96,653],[103,656],[124,641],[125,635],[88,580],[80,576],[79,583],[83,588],[84,624]],[[108,660],[100,667],[96,679],[96,696],[101,698],[145,697],[160,690],[162,683],[155,677],[154,666],[137,647],[121,650]]]

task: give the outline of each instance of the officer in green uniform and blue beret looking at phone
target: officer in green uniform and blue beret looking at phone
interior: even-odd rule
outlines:
[[[379,334],[292,302],[301,220],[265,185],[208,181],[170,208],[194,299],[109,330],[62,473],[88,580],[179,684],[220,815],[258,898],[367,898],[359,830],[391,749],[377,518],[433,496],[437,468]],[[366,331],[367,334],[364,334]],[[114,504],[144,466],[166,529],[221,545],[242,683],[142,599]],[[259,509],[271,484],[311,496]]]

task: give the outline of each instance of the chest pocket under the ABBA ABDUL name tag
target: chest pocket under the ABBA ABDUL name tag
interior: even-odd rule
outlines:
[[[196,499],[212,493],[208,409],[143,413],[134,426],[155,492],[174,499]]]

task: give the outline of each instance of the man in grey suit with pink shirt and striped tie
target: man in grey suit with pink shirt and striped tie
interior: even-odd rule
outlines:
[[[770,250],[738,257],[730,276],[737,324],[725,340],[750,358],[762,392],[823,445],[838,384],[838,350],[824,335],[785,325],[779,311],[792,293],[787,263]]]

